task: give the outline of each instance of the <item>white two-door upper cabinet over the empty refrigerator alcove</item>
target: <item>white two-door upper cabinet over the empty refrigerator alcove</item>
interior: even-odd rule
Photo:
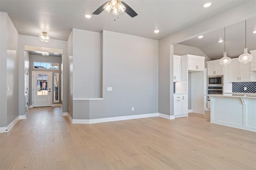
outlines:
[[[188,56],[188,70],[204,71],[204,58],[196,55]]]

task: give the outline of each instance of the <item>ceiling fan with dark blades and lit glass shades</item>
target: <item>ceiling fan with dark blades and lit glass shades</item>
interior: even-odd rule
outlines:
[[[104,10],[109,13],[111,9],[113,9],[112,14],[114,16],[119,15],[122,12],[126,12],[132,18],[138,15],[130,6],[128,6],[123,1],[120,2],[119,0],[110,0],[110,2],[104,3],[92,14],[99,15]]]

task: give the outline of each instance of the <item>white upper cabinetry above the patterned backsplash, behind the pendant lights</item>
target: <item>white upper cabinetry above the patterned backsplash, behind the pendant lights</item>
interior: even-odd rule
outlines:
[[[238,58],[232,59],[228,65],[229,82],[250,82],[255,81],[255,72],[250,71],[250,63],[242,64]]]

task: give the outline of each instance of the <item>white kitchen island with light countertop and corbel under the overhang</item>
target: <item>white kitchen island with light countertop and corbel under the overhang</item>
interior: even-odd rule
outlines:
[[[256,132],[256,94],[209,94],[210,121]]]

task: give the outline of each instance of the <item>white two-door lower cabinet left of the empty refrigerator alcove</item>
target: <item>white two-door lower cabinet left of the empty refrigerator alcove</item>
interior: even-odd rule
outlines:
[[[188,102],[186,94],[174,94],[174,117],[188,115]]]

